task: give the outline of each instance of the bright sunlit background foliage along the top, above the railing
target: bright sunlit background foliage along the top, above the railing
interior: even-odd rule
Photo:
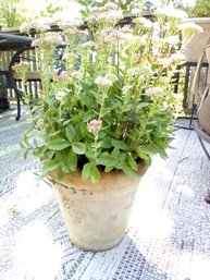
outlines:
[[[153,3],[173,3],[175,8],[189,12],[192,16],[209,16],[210,15],[210,2],[209,0],[197,0],[196,5],[190,9],[189,4],[186,4],[182,0],[110,0],[116,3],[124,13],[131,13],[134,9],[138,8],[143,14],[151,13],[153,11]],[[109,1],[109,2],[110,2]],[[36,0],[36,4],[32,4],[32,0],[0,0],[0,23],[5,27],[20,26],[24,22],[48,19],[48,22],[53,22],[60,13],[64,14],[64,19],[75,16],[76,10],[81,10],[81,5],[84,7],[84,16],[91,12],[92,7],[101,5],[108,2],[108,0]],[[140,7],[139,7],[140,3]],[[73,13],[65,14],[67,8],[71,7]]]

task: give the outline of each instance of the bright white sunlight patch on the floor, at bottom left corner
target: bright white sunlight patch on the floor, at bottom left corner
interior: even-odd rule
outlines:
[[[54,280],[62,247],[53,243],[47,226],[35,220],[24,226],[15,240],[16,279]]]

